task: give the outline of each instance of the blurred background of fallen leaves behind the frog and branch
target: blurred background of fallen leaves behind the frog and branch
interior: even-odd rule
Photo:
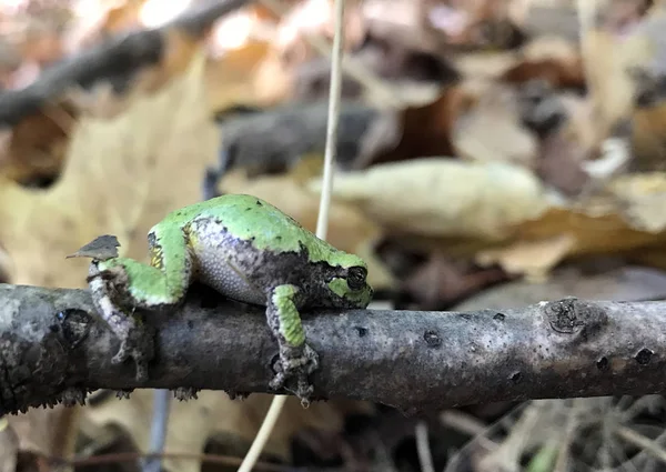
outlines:
[[[67,254],[111,233],[145,260],[167,212],[228,192],[314,231],[332,1],[215,3],[0,1],[0,281],[85,287]],[[366,259],[375,307],[664,299],[662,1],[349,0],[344,49],[327,239]],[[235,470],[270,400],[172,402],[163,470]],[[151,409],[4,418],[0,471],[139,470]],[[665,441],[659,395],[290,399],[255,470],[662,471]]]

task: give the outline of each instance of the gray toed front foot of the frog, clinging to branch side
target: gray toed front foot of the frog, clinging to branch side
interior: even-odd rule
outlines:
[[[314,386],[310,383],[309,376],[319,368],[319,355],[307,344],[299,348],[284,347],[280,349],[280,359],[275,364],[275,376],[270,383],[272,390],[285,388],[294,393],[303,405],[310,403],[309,399],[314,392]],[[296,389],[286,386],[287,381],[294,379]]]

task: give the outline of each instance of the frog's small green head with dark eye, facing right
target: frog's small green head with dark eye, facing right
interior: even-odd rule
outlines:
[[[341,308],[366,308],[373,291],[366,281],[365,261],[357,255],[340,252],[331,262],[336,271],[326,287],[333,304]]]

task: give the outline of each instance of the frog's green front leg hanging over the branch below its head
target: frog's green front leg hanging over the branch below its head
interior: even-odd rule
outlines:
[[[287,379],[296,378],[294,392],[303,402],[314,388],[309,375],[319,366],[319,355],[305,343],[305,331],[297,309],[299,289],[291,284],[274,288],[266,303],[266,318],[280,344],[280,365],[271,381],[271,389],[284,386]]]

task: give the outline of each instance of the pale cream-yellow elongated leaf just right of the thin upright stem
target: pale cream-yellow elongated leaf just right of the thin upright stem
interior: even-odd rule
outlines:
[[[319,191],[321,181],[309,188]],[[541,182],[524,168],[441,158],[339,174],[333,197],[404,232],[488,240],[505,238],[548,205]]]

